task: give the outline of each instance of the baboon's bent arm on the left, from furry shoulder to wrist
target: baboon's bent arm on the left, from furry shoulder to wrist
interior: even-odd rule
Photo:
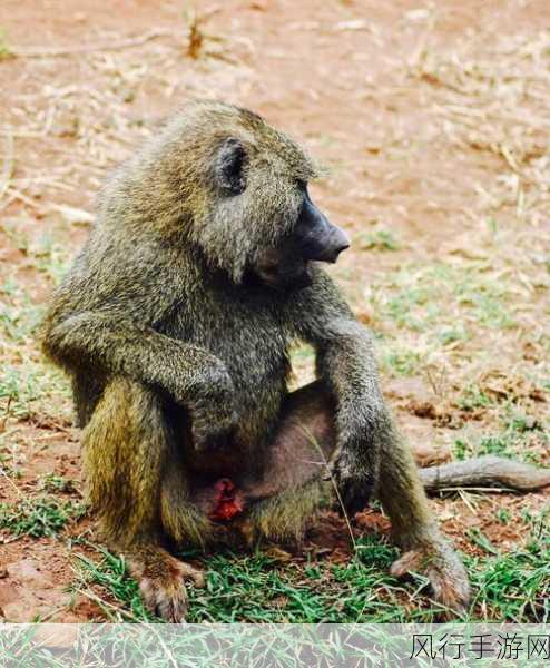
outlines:
[[[170,248],[124,227],[92,235],[56,292],[45,352],[69,372],[122,375],[181,404],[230,392],[225,364],[163,333],[185,294],[185,267]],[[209,402],[212,403],[212,402]]]

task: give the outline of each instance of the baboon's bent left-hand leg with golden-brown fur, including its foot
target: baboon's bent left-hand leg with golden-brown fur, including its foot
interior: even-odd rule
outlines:
[[[106,387],[82,435],[88,498],[108,544],[128,560],[147,607],[169,621],[186,610],[184,580],[202,576],[164,547],[202,518],[186,504],[185,471],[157,394],[126,379]],[[177,503],[177,505],[174,505]]]

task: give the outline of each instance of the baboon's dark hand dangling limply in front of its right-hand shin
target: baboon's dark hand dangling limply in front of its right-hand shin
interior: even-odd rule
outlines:
[[[340,499],[348,515],[360,512],[369,503],[374,484],[376,471],[350,449],[340,449],[331,463],[331,477],[334,481]]]

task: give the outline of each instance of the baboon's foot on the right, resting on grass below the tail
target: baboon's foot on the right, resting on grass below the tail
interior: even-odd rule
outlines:
[[[452,617],[466,611],[470,602],[470,582],[464,566],[443,539],[409,550],[392,564],[391,573],[396,578],[415,572],[430,580],[433,599],[444,606]]]

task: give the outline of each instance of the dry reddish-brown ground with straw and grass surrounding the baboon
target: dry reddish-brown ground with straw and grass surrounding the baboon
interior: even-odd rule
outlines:
[[[81,497],[68,383],[37,346],[109,168],[190,97],[264,114],[326,167],[352,237],[334,276],[377,341],[422,463],[550,464],[550,6],[546,0],[3,0],[0,8],[0,618],[145,619]],[[297,382],[312,355],[294,356]],[[550,493],[432,501],[464,554],[470,619],[548,621]],[[190,617],[438,615],[380,509],[326,510],[298,548],[191,553]]]

